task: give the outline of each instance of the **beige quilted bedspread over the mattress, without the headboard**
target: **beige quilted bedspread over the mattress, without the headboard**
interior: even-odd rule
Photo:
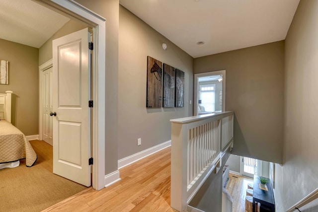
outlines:
[[[37,155],[24,134],[11,123],[0,120],[0,164],[25,158],[26,166],[33,166]]]

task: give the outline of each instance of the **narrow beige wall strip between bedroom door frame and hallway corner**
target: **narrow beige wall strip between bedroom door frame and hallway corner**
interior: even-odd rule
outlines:
[[[117,170],[119,0],[76,0],[106,18],[105,174]]]

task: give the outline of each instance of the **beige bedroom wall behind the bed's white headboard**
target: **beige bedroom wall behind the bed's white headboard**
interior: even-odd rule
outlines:
[[[12,124],[26,136],[38,134],[39,77],[37,48],[0,39],[0,60],[9,61],[9,84],[0,93],[13,91]]]

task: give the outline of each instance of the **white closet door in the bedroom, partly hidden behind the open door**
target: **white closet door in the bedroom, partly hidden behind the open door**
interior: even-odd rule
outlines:
[[[53,110],[52,70],[51,67],[42,72],[42,140],[51,145],[53,145],[53,117],[50,116]]]

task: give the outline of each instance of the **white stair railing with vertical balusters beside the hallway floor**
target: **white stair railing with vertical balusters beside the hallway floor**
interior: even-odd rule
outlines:
[[[221,158],[233,145],[234,112],[221,112],[170,120],[171,207],[179,212],[207,177],[221,168]]]

